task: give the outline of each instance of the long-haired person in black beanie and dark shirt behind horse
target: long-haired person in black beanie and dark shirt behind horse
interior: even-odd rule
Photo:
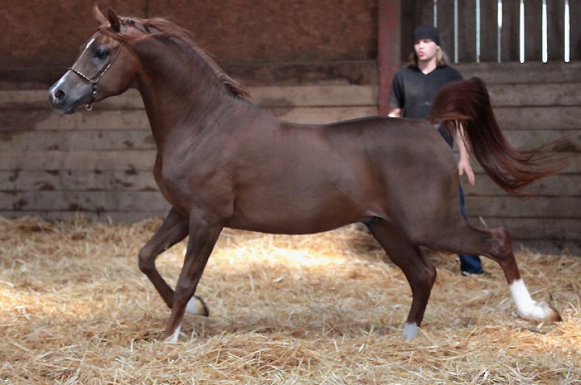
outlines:
[[[432,100],[441,86],[453,80],[463,79],[462,75],[448,65],[448,57],[440,47],[440,34],[434,26],[419,26],[414,30],[414,52],[410,63],[400,69],[394,76],[389,96],[389,106],[393,108],[388,116],[394,118],[426,119],[430,113]],[[454,146],[452,135],[436,127],[450,147]],[[456,138],[460,153],[458,171],[468,177],[474,185],[474,171],[470,166],[470,156],[460,135]],[[459,187],[460,211],[467,220],[464,211],[464,194]],[[463,275],[482,274],[479,256],[460,255],[460,270]]]

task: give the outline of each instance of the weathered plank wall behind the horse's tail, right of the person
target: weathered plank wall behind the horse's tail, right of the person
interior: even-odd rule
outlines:
[[[497,120],[519,149],[566,138],[555,151],[571,156],[559,174],[536,182],[536,198],[510,198],[477,168],[477,184],[463,182],[474,223],[504,226],[527,245],[581,250],[581,62],[465,64],[464,77],[486,80]],[[480,219],[482,218],[483,221]]]

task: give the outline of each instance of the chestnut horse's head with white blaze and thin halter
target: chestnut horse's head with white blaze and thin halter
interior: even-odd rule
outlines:
[[[113,38],[124,27],[120,18],[111,9],[104,17],[96,5],[93,12],[98,31],[82,44],[75,64],[48,90],[53,109],[60,113],[73,113],[80,104],[90,110],[93,102],[127,91],[136,78],[131,50]]]

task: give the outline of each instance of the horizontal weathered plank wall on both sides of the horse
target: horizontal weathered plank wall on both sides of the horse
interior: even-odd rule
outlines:
[[[507,227],[533,247],[581,250],[581,63],[458,68],[488,82],[515,147],[566,136],[557,150],[574,156],[562,173],[534,185],[540,197],[530,200],[508,197],[477,168],[477,185],[463,183],[470,220]],[[295,122],[377,113],[377,86],[347,78],[317,85],[273,80],[250,89],[258,104]],[[134,91],[73,115],[50,111],[46,90],[0,91],[0,216],[61,219],[84,212],[132,221],[163,215],[168,206],[151,176],[153,162],[154,143]]]

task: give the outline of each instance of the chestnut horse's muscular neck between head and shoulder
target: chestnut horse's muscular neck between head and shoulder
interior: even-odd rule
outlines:
[[[154,41],[157,49],[163,47]],[[138,80],[151,131],[158,149],[167,135],[180,127],[196,130],[215,119],[216,111],[236,102],[203,59],[193,50],[163,47],[156,57],[152,49],[143,55]]]

